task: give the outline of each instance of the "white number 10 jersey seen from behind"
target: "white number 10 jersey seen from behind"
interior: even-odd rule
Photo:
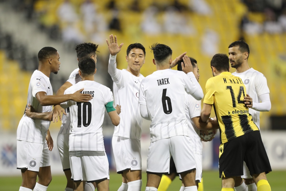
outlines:
[[[69,107],[69,151],[105,151],[102,124],[105,108],[111,105],[112,111],[116,110],[112,92],[98,82],[85,80],[67,88],[64,94],[74,93],[81,88],[84,88],[82,93],[91,94],[93,99],[89,102],[67,101],[61,104],[63,108]]]

